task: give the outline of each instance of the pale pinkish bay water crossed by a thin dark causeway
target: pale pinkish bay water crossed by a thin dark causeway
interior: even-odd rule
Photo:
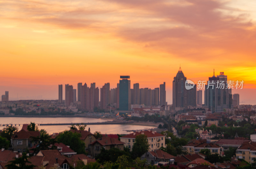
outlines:
[[[36,124],[45,123],[86,123],[86,122],[103,122],[108,121],[100,118],[88,118],[88,117],[0,117],[0,124],[29,124],[35,122]],[[0,126],[0,129],[6,126]],[[19,130],[22,125],[16,126]],[[87,125],[85,130],[90,127],[91,132],[100,131],[102,134],[128,134],[126,130],[140,130],[140,129],[152,129],[152,126],[137,126],[128,124],[107,124],[107,125]],[[39,129],[45,129],[48,133],[61,132],[69,129],[68,125],[49,125],[38,126]]]

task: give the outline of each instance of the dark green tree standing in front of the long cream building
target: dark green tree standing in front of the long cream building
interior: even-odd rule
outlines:
[[[132,148],[133,158],[141,157],[145,152],[149,150],[149,144],[147,136],[140,134],[135,137],[135,143]]]

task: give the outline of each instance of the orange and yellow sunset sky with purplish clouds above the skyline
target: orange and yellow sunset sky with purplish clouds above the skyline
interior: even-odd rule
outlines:
[[[256,104],[255,0],[0,0],[0,95],[58,99],[58,85],[140,88],[244,80],[240,104]],[[64,90],[65,91],[65,90]],[[63,99],[64,97],[63,92]]]

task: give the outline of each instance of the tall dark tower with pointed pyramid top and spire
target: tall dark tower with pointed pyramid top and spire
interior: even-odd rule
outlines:
[[[186,80],[187,77],[184,76],[180,68],[172,81],[172,106],[174,110],[187,109]]]

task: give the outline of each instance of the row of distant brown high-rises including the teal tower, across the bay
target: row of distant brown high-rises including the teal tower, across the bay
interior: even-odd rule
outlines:
[[[65,102],[63,102],[63,88],[59,85],[59,103],[66,107],[77,107],[82,111],[93,111],[95,108],[109,110],[119,108],[120,111],[130,111],[131,105],[158,106],[167,105],[165,82],[159,88],[140,88],[139,83],[133,84],[131,89],[130,76],[120,76],[116,88],[110,89],[105,83],[102,88],[91,83],[77,84],[77,90],[72,85],[65,85]],[[77,92],[77,94],[76,94]],[[76,99],[77,96],[77,99]]]

